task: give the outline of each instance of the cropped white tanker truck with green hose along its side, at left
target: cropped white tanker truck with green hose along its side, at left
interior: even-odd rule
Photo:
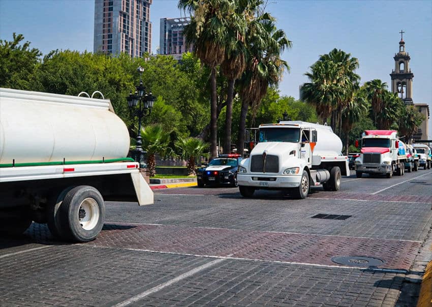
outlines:
[[[104,201],[152,204],[129,146],[109,100],[0,88],[2,235],[35,221],[86,242],[103,227]]]

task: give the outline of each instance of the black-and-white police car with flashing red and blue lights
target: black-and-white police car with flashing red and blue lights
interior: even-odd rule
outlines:
[[[240,155],[235,154],[214,158],[206,167],[198,169],[198,187],[223,185],[237,187],[237,169],[241,159]]]

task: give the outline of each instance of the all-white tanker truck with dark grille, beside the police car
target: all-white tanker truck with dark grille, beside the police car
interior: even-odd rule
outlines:
[[[250,158],[240,162],[238,188],[243,197],[255,190],[283,190],[294,198],[307,196],[311,186],[337,191],[341,175],[349,175],[342,141],[329,126],[281,121],[259,126],[259,140]]]

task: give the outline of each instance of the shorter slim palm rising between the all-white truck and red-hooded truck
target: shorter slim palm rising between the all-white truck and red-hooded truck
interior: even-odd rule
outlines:
[[[364,91],[357,90],[351,101],[342,111],[342,129],[345,133],[345,155],[348,156],[350,147],[350,131],[354,124],[367,113],[367,100]]]

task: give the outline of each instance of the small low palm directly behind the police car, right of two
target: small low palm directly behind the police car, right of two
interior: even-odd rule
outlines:
[[[179,138],[175,146],[181,150],[181,157],[188,160],[188,174],[196,175],[195,162],[201,156],[208,157],[208,143],[198,138]]]

